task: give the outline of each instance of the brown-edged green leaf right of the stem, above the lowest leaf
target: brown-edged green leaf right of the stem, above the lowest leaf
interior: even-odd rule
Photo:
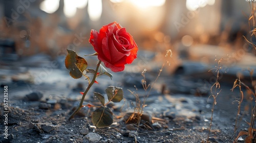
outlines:
[[[105,92],[109,101],[120,102],[123,99],[123,89],[121,87],[109,86]]]

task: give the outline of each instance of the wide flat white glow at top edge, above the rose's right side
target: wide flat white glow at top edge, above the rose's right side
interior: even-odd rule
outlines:
[[[165,0],[131,0],[131,2],[139,8],[161,7],[165,4]]]

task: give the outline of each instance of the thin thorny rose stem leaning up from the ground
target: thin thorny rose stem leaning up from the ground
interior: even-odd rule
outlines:
[[[79,106],[76,108],[76,110],[70,115],[69,120],[71,120],[71,118],[73,118],[74,115],[82,108],[83,100],[84,100],[84,98],[86,97],[87,92],[89,91],[89,89],[92,87],[92,85],[94,84],[94,82],[95,82],[95,80],[96,80],[100,63],[101,63],[101,61],[98,62],[97,67],[96,67],[96,70],[95,70],[95,73],[94,73],[94,76],[93,76],[93,79],[92,79],[91,83],[88,84],[88,87],[86,88],[86,91],[83,92],[83,94],[82,94],[82,99],[81,99],[81,101],[80,101],[80,104],[79,104]]]

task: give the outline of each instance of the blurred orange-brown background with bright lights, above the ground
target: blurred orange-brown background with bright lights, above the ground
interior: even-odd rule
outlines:
[[[187,52],[196,54],[193,46],[208,44],[236,51],[244,46],[242,36],[253,29],[248,25],[250,13],[249,3],[241,0],[2,0],[1,53],[13,52],[18,58],[45,53],[55,58],[59,51],[90,46],[91,29],[112,21],[125,27],[144,50],[163,52],[170,46],[186,57]],[[3,47],[12,42],[13,50]]]

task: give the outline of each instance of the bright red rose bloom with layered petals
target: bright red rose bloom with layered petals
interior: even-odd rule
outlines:
[[[112,71],[124,70],[125,64],[137,58],[138,46],[133,36],[116,21],[103,26],[99,33],[92,30],[89,42],[98,53],[98,59]]]

